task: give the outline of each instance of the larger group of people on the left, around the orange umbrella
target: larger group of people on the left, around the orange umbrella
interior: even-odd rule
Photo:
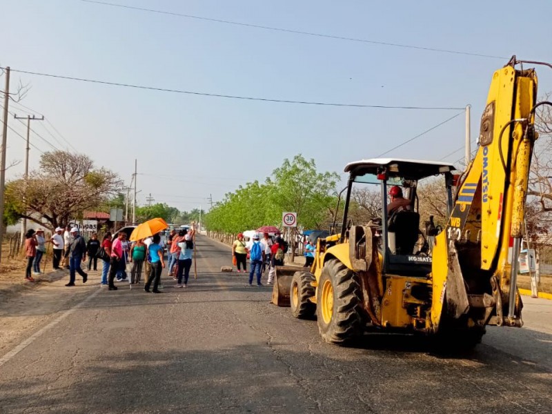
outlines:
[[[175,288],[188,286],[188,277],[192,266],[195,230],[179,230],[177,234],[172,230],[167,243],[170,275],[177,280]],[[34,282],[34,275],[41,274],[40,263],[46,253],[46,243],[52,243],[52,267],[55,270],[66,267],[69,269],[69,282],[65,286],[75,286],[77,273],[82,282],[86,283],[88,274],[81,268],[88,255],[88,270],[97,270],[97,261],[101,259],[100,286],[107,286],[108,290],[117,290],[115,279],[119,282],[128,281],[127,264],[132,263],[130,270],[130,284],[139,284],[144,263],[148,279],[144,284],[146,292],[160,293],[159,283],[161,271],[165,268],[164,244],[159,234],[139,239],[134,244],[127,240],[127,234],[121,231],[112,237],[110,232],[103,236],[101,242],[94,233],[85,242],[77,227],[58,227],[49,240],[44,237],[44,230],[30,229],[25,240],[27,267],[25,279]],[[152,288],[152,290],[150,290]]]

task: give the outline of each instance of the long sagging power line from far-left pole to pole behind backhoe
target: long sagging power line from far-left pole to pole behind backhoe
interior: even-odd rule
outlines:
[[[0,67],[0,69],[3,69]],[[97,79],[86,79],[79,77],[71,77],[64,75],[52,75],[49,73],[41,72],[31,72],[29,70],[17,70],[12,69],[12,72],[25,73],[27,75],[36,75],[43,77],[51,77],[57,79],[66,79],[71,81],[81,81],[88,83],[100,83],[102,85],[110,86],[121,86],[124,88],[135,88],[135,89],[145,89],[145,90],[155,90],[157,92],[172,92],[172,93],[181,93],[186,95],[199,95],[204,97],[218,97],[218,98],[228,98],[228,99],[242,99],[246,101],[264,101],[264,102],[278,102],[278,103],[301,103],[304,105],[318,105],[318,106],[345,106],[352,108],[382,108],[382,109],[415,109],[415,110],[464,110],[464,108],[456,108],[451,106],[387,106],[387,105],[363,105],[358,103],[331,103],[331,102],[315,102],[315,101],[293,101],[290,99],[270,99],[270,98],[257,98],[257,97],[244,97],[238,95],[222,95],[218,93],[208,93],[208,92],[194,92],[191,90],[180,90],[180,89],[171,89],[171,88],[156,88],[154,86],[143,86],[143,85],[133,85],[130,83],[121,83],[121,82],[109,82],[109,81],[99,81]]]

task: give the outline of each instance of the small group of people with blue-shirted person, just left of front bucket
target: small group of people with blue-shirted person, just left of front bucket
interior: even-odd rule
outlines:
[[[237,239],[232,244],[233,263],[237,267],[237,273],[247,273],[247,256],[249,255],[250,271],[249,281],[246,286],[253,286],[253,277],[257,277],[257,286],[263,286],[261,282],[262,274],[268,264],[268,284],[272,284],[275,275],[275,266],[284,265],[284,254],[288,249],[288,244],[282,239],[281,235],[276,235],[275,239],[270,238],[268,233],[263,234],[261,240],[258,233],[255,233],[249,242],[245,242],[244,234],[239,233]]]

